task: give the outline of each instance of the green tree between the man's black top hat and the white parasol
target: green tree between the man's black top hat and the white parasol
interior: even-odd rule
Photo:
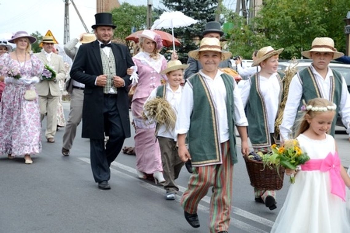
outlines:
[[[133,6],[124,2],[120,7],[112,10],[113,23],[117,26],[114,30],[114,38],[125,41],[125,37],[131,34],[131,28],[136,31],[146,28],[147,7]],[[131,41],[125,41],[128,48],[131,48]]]

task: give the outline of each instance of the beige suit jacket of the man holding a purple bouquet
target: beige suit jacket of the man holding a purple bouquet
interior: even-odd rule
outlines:
[[[45,96],[50,94],[52,96],[59,96],[61,95],[61,92],[59,90],[59,80],[63,80],[66,77],[66,72],[64,69],[64,64],[63,64],[63,58],[56,53],[51,54],[51,61],[49,62],[46,59],[44,50],[42,50],[40,53],[35,53],[35,56],[37,56],[44,64],[49,65],[51,68],[53,68],[56,71],[56,81],[41,81],[36,84],[36,90],[38,92],[38,95]]]

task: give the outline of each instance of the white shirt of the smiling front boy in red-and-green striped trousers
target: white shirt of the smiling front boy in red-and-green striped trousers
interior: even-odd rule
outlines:
[[[229,140],[229,125],[226,112],[226,88],[224,81],[221,78],[222,71],[218,70],[214,79],[205,75],[202,70],[199,73],[204,78],[204,81],[209,87],[209,91],[212,100],[215,104],[216,116],[218,119],[218,130],[220,143]],[[242,100],[240,98],[239,88],[236,88],[236,82],[233,82],[233,104],[234,104],[234,116],[235,123],[237,126],[247,126],[248,121],[244,113],[244,108]],[[179,117],[176,121],[175,133],[184,134],[187,133],[190,128],[190,117],[193,111],[193,89],[186,83],[181,96],[180,106],[179,106]],[[198,129],[200,130],[200,129]]]

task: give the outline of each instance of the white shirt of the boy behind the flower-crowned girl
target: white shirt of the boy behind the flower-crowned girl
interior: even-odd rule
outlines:
[[[311,65],[311,71],[314,74],[317,82],[317,86],[320,88],[321,97],[330,100],[330,76],[333,76],[332,70],[328,67],[328,72],[325,78],[323,78],[316,69]],[[289,139],[292,133],[292,126],[294,124],[295,116],[298,111],[298,107],[302,96],[302,83],[298,74],[295,74],[289,85],[288,98],[283,113],[283,121],[280,125],[280,133],[283,140]],[[340,98],[339,114],[342,117],[342,122],[346,127],[346,132],[350,137],[350,94],[348,87],[346,86],[345,79],[342,77],[342,95]],[[337,117],[337,116],[335,116]]]

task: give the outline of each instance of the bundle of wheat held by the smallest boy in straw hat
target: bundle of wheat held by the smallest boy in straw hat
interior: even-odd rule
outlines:
[[[156,97],[147,101],[144,105],[142,116],[145,120],[148,119],[157,123],[155,134],[158,133],[160,125],[165,125],[167,131],[175,129],[175,112],[169,102],[164,98]]]

